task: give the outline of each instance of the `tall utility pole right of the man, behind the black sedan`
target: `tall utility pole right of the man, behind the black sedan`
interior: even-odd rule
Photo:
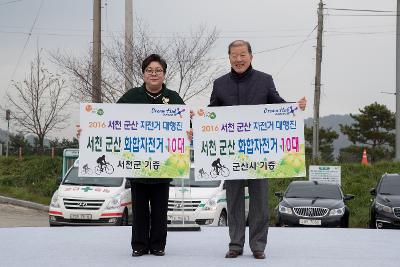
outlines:
[[[321,96],[321,62],[322,62],[322,32],[324,29],[324,4],[319,1],[318,7],[318,34],[315,64],[315,91],[314,91],[314,123],[313,123],[313,146],[312,161],[315,163],[319,158],[319,100]]]

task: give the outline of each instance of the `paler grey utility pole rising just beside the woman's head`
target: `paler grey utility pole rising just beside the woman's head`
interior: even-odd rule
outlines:
[[[125,0],[125,91],[133,87],[133,0]]]

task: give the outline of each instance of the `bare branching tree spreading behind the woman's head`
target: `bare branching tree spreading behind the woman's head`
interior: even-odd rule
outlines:
[[[175,35],[172,38],[152,38],[148,26],[137,21],[138,30],[133,41],[132,87],[143,83],[141,63],[149,54],[162,55],[168,62],[165,83],[177,90],[184,100],[188,100],[209,89],[220,69],[209,58],[209,53],[218,39],[216,29],[208,31],[201,26],[189,36]],[[103,44],[102,58],[102,99],[115,102],[124,93],[125,44],[122,36],[114,37],[111,44]],[[74,88],[74,96],[79,101],[91,101],[91,53],[76,57],[50,54],[68,75]]]

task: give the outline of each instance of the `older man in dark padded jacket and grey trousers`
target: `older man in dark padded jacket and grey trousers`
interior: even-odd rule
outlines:
[[[275,89],[272,76],[251,66],[251,46],[243,40],[233,41],[228,47],[231,72],[214,81],[210,106],[235,106],[283,103]],[[299,107],[305,109],[305,97]],[[246,218],[244,180],[225,181],[229,222],[229,250],[226,258],[243,254]],[[268,179],[248,180],[250,208],[248,215],[250,249],[256,259],[265,258],[268,236]]]

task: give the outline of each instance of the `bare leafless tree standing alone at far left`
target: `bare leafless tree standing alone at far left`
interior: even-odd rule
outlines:
[[[11,104],[11,119],[27,133],[37,137],[43,149],[45,136],[52,130],[64,129],[69,113],[66,111],[71,94],[65,80],[50,73],[44,66],[40,51],[31,62],[29,76],[23,82],[14,82],[15,95],[7,93]]]

